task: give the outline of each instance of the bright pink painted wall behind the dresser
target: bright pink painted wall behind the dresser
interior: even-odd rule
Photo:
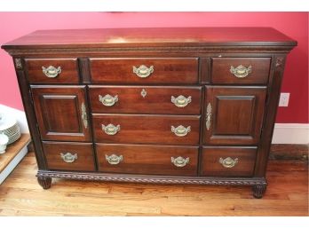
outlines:
[[[0,43],[37,29],[130,27],[273,27],[297,40],[287,60],[277,122],[308,120],[307,12],[0,12]],[[0,104],[23,109],[12,59],[0,51]]]

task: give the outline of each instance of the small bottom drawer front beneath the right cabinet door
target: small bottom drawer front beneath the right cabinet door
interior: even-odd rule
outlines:
[[[202,148],[202,176],[251,177],[253,175],[257,147]]]

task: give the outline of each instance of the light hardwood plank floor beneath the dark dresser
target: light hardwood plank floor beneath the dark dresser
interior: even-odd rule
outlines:
[[[249,186],[36,181],[34,153],[0,187],[0,216],[308,216],[307,163],[270,161],[263,199]],[[293,185],[290,185],[293,183]]]

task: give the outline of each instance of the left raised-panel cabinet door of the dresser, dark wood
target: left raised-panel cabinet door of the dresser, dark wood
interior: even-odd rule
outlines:
[[[32,86],[44,140],[89,141],[85,86]]]

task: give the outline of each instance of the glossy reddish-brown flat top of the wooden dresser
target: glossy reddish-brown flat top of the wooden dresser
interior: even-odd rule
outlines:
[[[37,30],[5,43],[3,49],[248,45],[294,46],[273,28],[98,28]]]

